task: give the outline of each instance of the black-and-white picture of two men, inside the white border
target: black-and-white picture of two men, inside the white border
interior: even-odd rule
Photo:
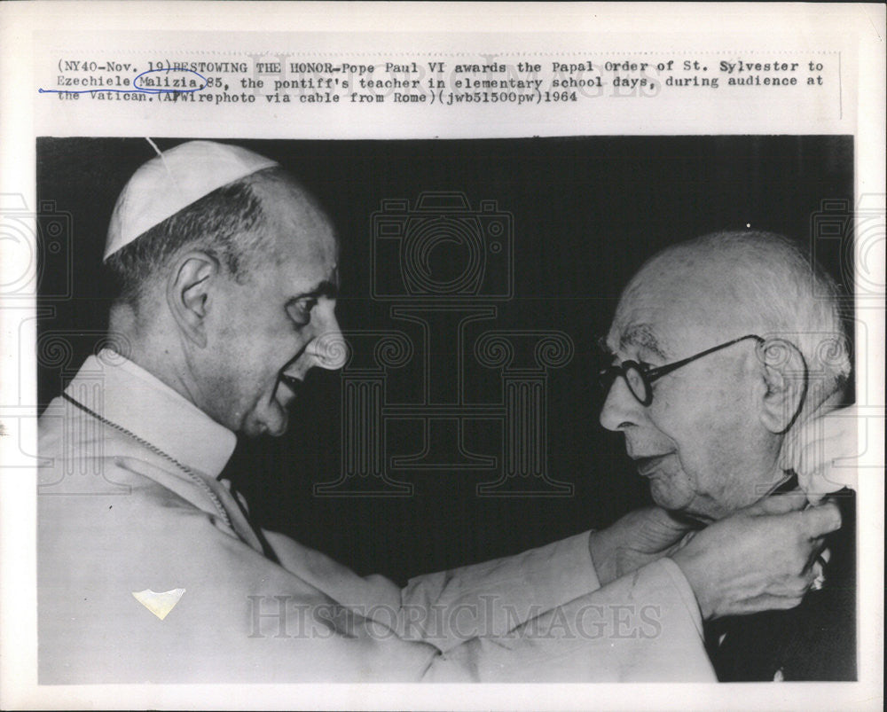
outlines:
[[[855,679],[852,166],[40,138],[41,681]]]

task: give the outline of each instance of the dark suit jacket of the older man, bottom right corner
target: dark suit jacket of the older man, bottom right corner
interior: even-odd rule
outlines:
[[[828,536],[826,582],[789,611],[712,622],[707,647],[721,682],[856,680],[856,497],[836,494],[842,528]],[[724,636],[722,642],[721,636]]]

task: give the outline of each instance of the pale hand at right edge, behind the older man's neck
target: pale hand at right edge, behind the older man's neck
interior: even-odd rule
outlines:
[[[855,406],[831,411],[794,428],[782,445],[781,466],[816,504],[838,489],[856,489],[856,468],[840,460],[856,457],[859,414]]]

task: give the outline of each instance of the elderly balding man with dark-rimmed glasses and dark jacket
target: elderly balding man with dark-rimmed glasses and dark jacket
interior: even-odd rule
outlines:
[[[602,343],[600,422],[624,434],[657,505],[702,528],[774,493],[806,504],[797,446],[851,372],[837,296],[788,239],[756,231],[672,246],[632,278]],[[720,679],[855,678],[853,500],[841,494],[817,591],[790,612],[710,625]]]

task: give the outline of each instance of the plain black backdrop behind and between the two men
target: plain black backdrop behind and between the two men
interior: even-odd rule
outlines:
[[[165,150],[183,140],[156,143]],[[371,298],[371,222],[381,201],[412,204],[420,192],[458,191],[472,207],[497,201],[514,220],[514,298],[499,302],[498,318],[481,326],[556,329],[576,346],[569,364],[548,379],[549,469],[554,479],[573,484],[570,497],[479,497],[475,486],[495,474],[472,471],[397,473],[412,483],[411,497],[316,497],[314,484],[333,482],[341,471],[341,374],[319,369],[311,372],[286,435],[239,442],[227,472],[255,519],[361,574],[403,583],[602,527],[648,502],[621,436],[597,422],[591,354],[621,288],[663,246],[750,224],[811,246],[852,293],[842,263],[846,240],[811,235],[823,200],[852,205],[851,137],[233,143],[279,160],[326,206],[341,236],[343,330],[409,332],[389,317],[388,303]],[[153,155],[141,138],[37,141],[41,407],[106,328],[112,295],[100,263],[108,219],[129,176]],[[45,352],[41,340],[59,333],[69,348]],[[475,368],[467,378],[476,380],[479,393],[498,383],[490,369]],[[408,434],[400,438],[409,440]],[[498,434],[487,444],[495,453]],[[398,450],[403,447],[395,438],[389,455],[407,454],[414,445]]]

